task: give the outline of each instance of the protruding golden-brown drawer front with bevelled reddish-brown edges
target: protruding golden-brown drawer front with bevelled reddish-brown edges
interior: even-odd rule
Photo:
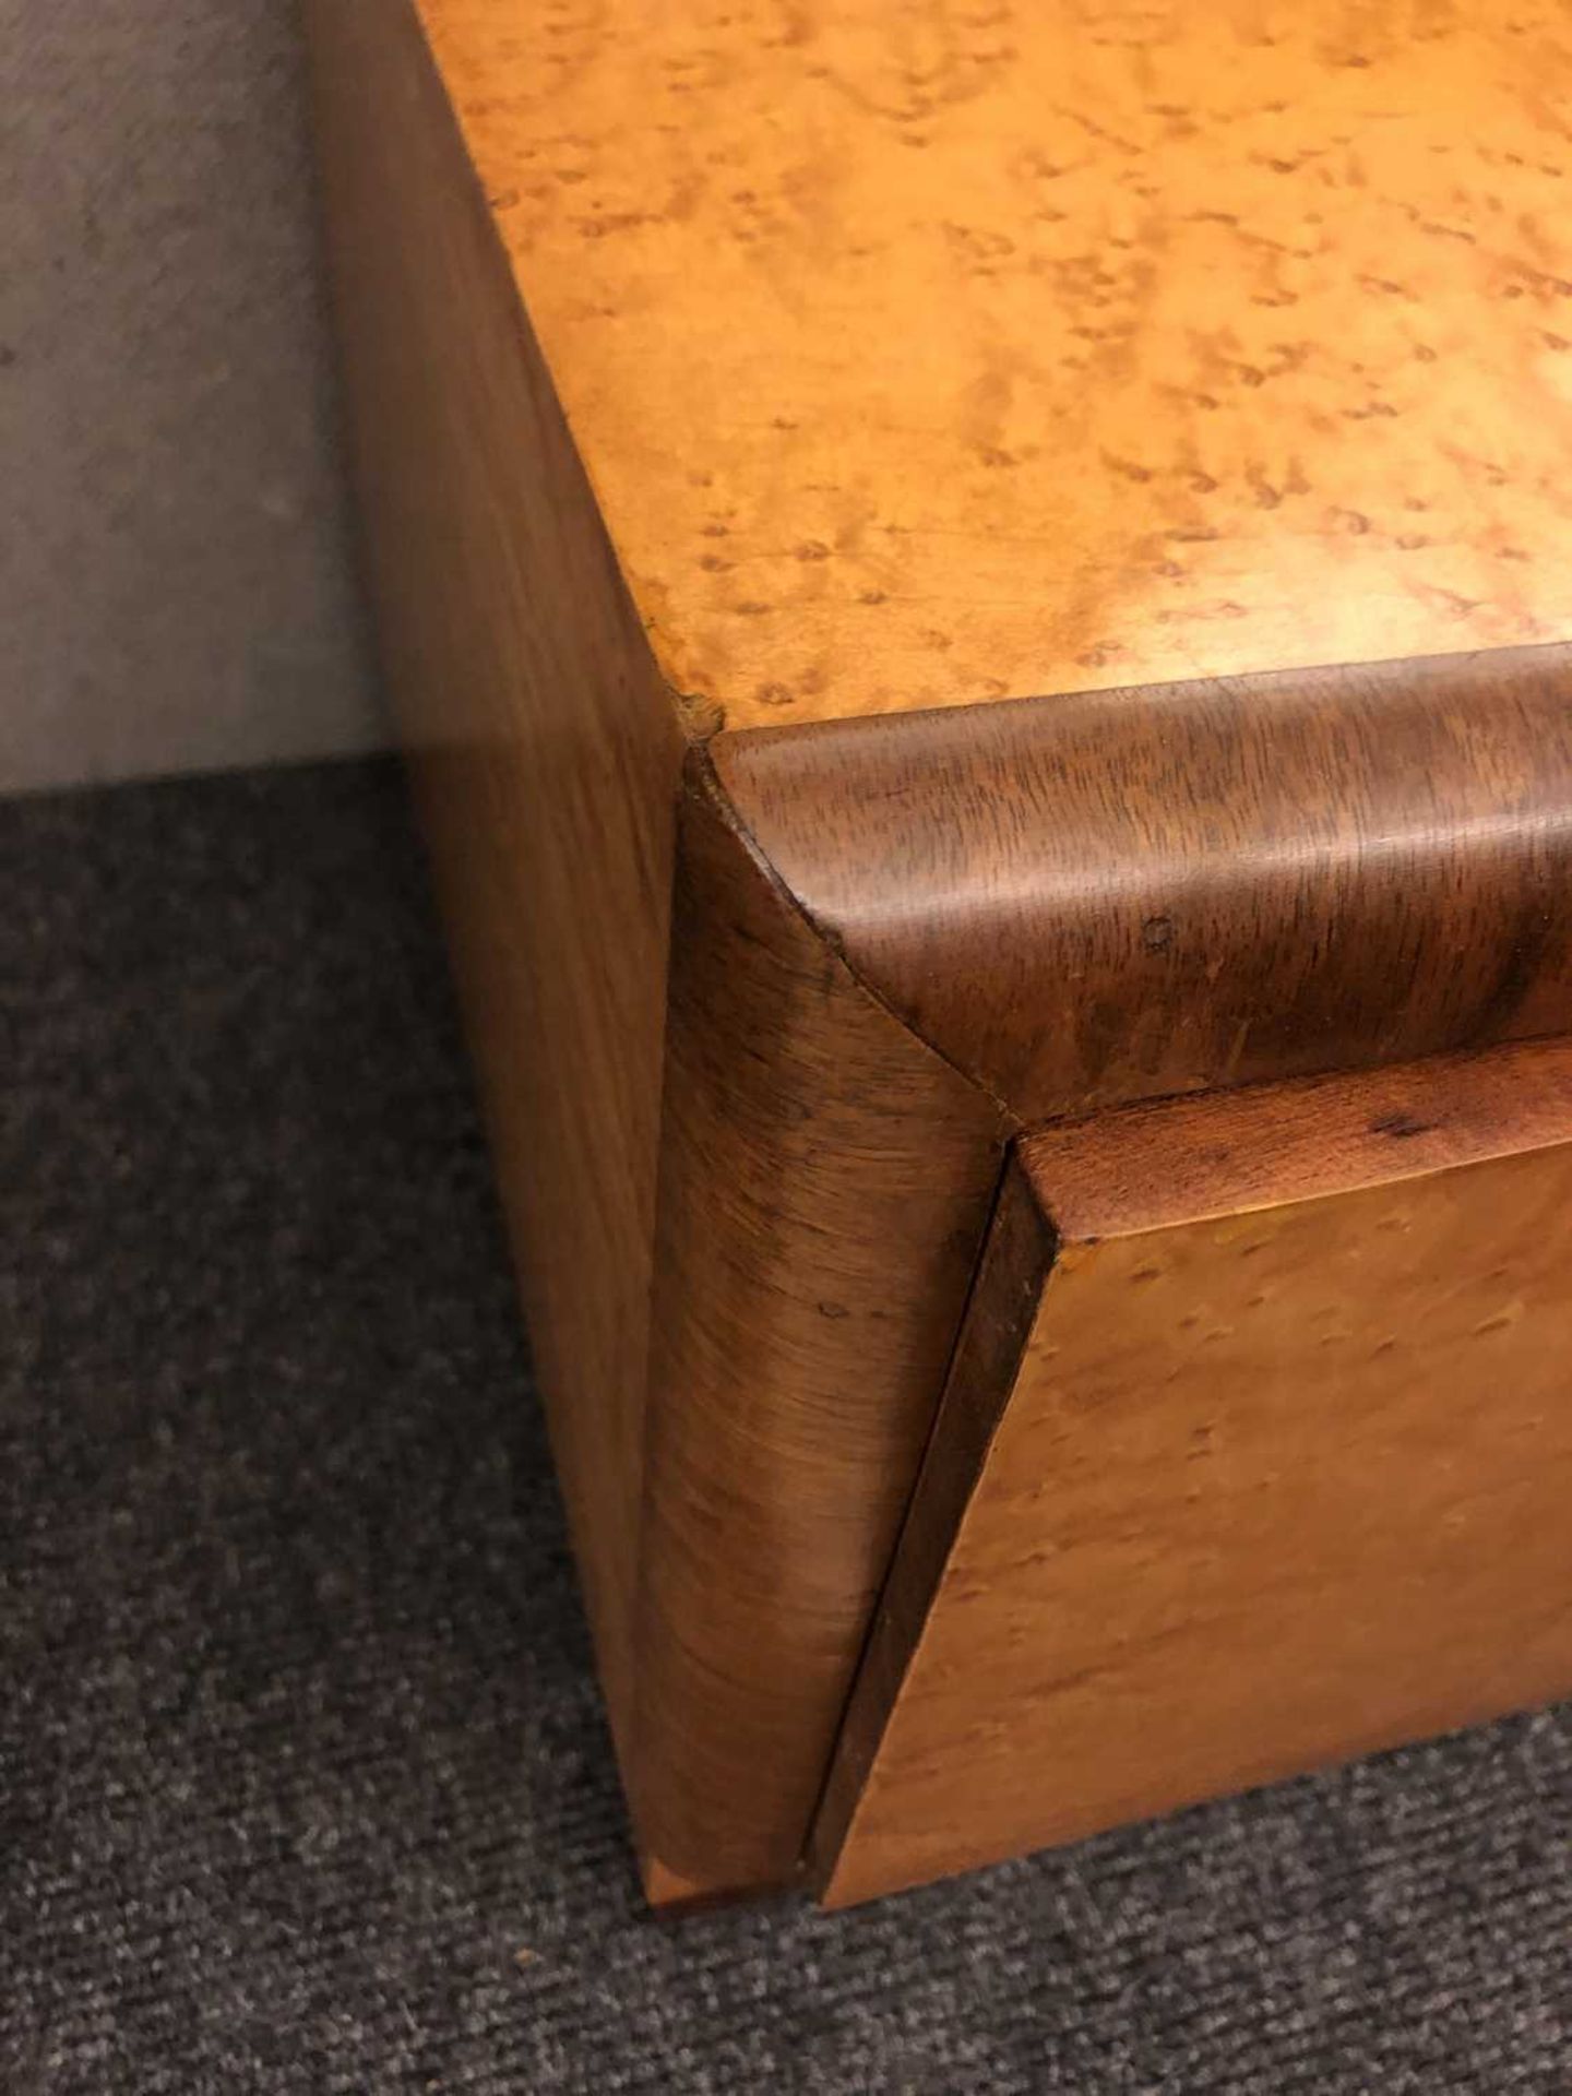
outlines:
[[[872,1773],[830,1788],[832,1905],[1572,1687],[1572,1044],[1021,1161],[1058,1253],[987,1438],[962,1339],[847,1723]]]

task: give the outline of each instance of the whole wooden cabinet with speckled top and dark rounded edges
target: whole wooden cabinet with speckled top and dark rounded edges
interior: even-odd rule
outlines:
[[[306,13],[652,1897],[1572,1689],[1564,13]]]

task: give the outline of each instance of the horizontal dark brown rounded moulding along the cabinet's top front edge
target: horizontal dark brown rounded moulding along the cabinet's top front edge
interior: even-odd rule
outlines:
[[[1572,656],[721,736],[855,973],[1027,1126],[1572,1029]]]

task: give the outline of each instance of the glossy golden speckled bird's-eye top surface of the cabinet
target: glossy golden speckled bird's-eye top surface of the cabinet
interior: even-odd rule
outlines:
[[[732,725],[1572,637],[1557,0],[419,0]]]

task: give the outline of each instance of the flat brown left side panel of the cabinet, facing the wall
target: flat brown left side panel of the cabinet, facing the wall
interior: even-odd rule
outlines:
[[[388,683],[627,1759],[683,740],[413,15],[308,15]]]

